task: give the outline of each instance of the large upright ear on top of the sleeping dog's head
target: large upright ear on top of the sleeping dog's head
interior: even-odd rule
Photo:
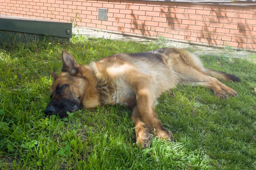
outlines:
[[[62,50],[61,52],[62,59],[62,70],[65,72],[69,72],[70,74],[76,74],[79,64],[76,63],[76,59],[67,51]]]

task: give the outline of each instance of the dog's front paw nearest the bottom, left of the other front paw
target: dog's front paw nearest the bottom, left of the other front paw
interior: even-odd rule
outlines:
[[[149,132],[146,125],[141,125],[141,127],[136,127],[136,143],[143,149],[148,147],[152,142],[152,135]]]

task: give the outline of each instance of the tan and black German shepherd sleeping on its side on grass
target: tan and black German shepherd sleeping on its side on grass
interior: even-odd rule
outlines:
[[[234,75],[204,68],[200,59],[188,51],[161,48],[135,54],[115,54],[79,65],[67,51],[62,51],[63,68],[50,88],[52,100],[46,115],[68,116],[67,111],[92,109],[105,104],[126,105],[133,111],[137,144],[146,147],[154,133],[161,139],[173,140],[172,133],[157,119],[157,98],[175,85],[202,85],[216,98],[237,96],[236,91],[221,83],[239,82]]]

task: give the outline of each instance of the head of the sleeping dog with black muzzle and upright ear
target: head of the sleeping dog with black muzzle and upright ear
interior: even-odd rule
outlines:
[[[81,66],[76,63],[76,59],[64,50],[61,55],[63,68],[59,76],[52,72],[54,79],[50,89],[52,100],[45,114],[58,114],[60,117],[65,117],[68,116],[67,111],[74,112],[80,108],[81,98],[84,95],[83,89],[86,88],[87,81],[81,77]]]

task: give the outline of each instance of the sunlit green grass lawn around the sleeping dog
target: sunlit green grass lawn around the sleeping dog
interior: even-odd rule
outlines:
[[[60,73],[62,49],[87,64],[160,47],[83,37],[0,46],[0,169],[256,169],[254,60],[201,56],[207,67],[241,78],[241,83],[225,82],[237,98],[215,99],[211,91],[192,86],[160,97],[156,111],[176,142],[154,139],[141,150],[134,144],[131,111],[118,105],[80,110],[64,119],[45,117],[50,73]]]

